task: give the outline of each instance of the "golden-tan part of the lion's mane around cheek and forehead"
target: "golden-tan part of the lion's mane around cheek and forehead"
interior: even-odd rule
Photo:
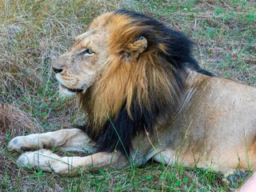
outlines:
[[[106,21],[108,21],[107,26],[104,26]],[[102,127],[108,120],[106,114],[111,118],[116,118],[125,101],[128,114],[132,118],[130,105],[133,97],[138,99],[139,106],[151,110],[149,94],[154,96],[153,100],[158,99],[162,102],[162,105],[166,102],[176,102],[180,94],[177,93],[179,89],[175,87],[177,86],[175,83],[173,87],[169,85],[170,82],[175,82],[174,76],[165,69],[161,63],[165,60],[159,58],[157,54],[159,50],[165,52],[165,46],[160,43],[153,49],[143,52],[146,49],[143,46],[146,45],[142,45],[142,42],[138,42],[137,45],[136,42],[133,43],[143,30],[153,30],[152,33],[158,34],[151,26],[134,26],[133,22],[134,19],[126,15],[111,13],[98,17],[90,26],[89,30],[93,30],[96,26],[99,30],[103,30],[104,27],[106,31],[111,30],[108,40],[108,58],[104,63],[102,78],[93,85],[89,103],[86,95],[81,95],[82,100],[85,100],[82,105],[94,117],[92,120],[96,129]],[[138,53],[135,54],[135,51]],[[124,54],[120,53],[132,53],[133,55],[127,59]],[[139,58],[138,54],[140,54]],[[152,88],[151,93],[148,87]]]

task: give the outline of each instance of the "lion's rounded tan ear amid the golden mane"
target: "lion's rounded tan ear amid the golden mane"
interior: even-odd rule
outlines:
[[[147,41],[144,37],[136,38],[134,42],[130,43],[128,46],[128,53],[126,53],[126,58],[130,61],[134,61],[138,58],[139,54],[141,54],[144,50],[146,50]]]

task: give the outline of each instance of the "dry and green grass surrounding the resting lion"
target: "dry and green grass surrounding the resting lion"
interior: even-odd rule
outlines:
[[[72,100],[58,98],[50,62],[67,50],[92,18],[126,8],[158,18],[195,42],[201,66],[218,76],[256,86],[256,2],[242,0],[0,0],[0,102],[25,110],[38,126],[0,130],[0,191],[228,191],[211,170],[163,166],[100,170],[64,177],[15,165],[6,150],[15,135],[58,130],[81,123]],[[72,155],[66,153],[62,155]]]

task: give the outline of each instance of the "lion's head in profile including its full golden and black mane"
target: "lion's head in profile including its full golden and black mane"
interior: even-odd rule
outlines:
[[[191,46],[153,18],[118,10],[95,18],[53,67],[61,90],[80,98],[99,150],[113,150],[118,139],[129,150],[136,131],[151,131],[178,109],[186,68],[202,70]]]

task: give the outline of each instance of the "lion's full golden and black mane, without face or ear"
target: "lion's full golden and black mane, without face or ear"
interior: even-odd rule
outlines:
[[[112,28],[109,58],[102,78],[79,95],[88,121],[78,128],[96,142],[98,151],[129,154],[134,135],[153,134],[159,117],[169,121],[178,110],[186,68],[211,74],[191,56],[186,36],[154,18],[118,10],[105,19],[104,25]],[[147,40],[146,50],[131,61],[129,45],[140,37]]]

